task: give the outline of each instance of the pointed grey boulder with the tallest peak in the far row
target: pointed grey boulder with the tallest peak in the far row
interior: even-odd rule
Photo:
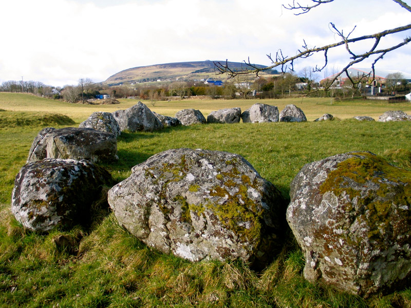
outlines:
[[[163,128],[154,113],[141,102],[128,109],[114,111],[113,116],[121,131],[153,131]]]

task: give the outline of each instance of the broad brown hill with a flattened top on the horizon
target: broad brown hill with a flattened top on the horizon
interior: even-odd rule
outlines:
[[[215,61],[225,64],[226,61]],[[252,69],[244,62],[228,62],[231,69]],[[264,65],[256,65],[264,68]],[[225,76],[216,75],[214,71],[214,62],[178,62],[165,63],[149,66],[139,66],[129,68],[110,76],[103,84],[115,86],[127,83],[144,83],[144,82],[172,82],[172,81],[193,81],[202,79],[223,79]]]

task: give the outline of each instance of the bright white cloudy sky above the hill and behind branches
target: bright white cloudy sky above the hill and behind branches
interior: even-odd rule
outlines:
[[[411,23],[411,13],[392,0],[335,0],[295,16],[291,0],[13,0],[2,3],[0,83],[41,81],[51,86],[101,82],[124,69],[186,61],[270,65],[267,54],[294,55],[340,41],[332,22],[350,37]],[[301,0],[304,4],[309,0]],[[400,43],[411,31],[382,40]],[[371,43],[353,47],[364,50]],[[344,48],[330,52],[320,79],[343,68]],[[355,67],[370,67],[367,60]],[[411,44],[384,56],[380,69],[411,73]],[[316,54],[294,65],[323,66]]]

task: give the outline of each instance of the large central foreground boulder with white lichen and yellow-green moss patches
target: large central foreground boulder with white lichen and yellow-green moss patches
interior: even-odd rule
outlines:
[[[161,252],[264,267],[281,243],[284,200],[241,156],[172,149],[132,171],[108,203],[121,225]]]

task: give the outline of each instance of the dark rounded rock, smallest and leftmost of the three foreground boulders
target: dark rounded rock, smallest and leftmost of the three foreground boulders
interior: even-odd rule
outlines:
[[[25,228],[36,232],[87,225],[91,204],[110,181],[106,170],[86,160],[29,163],[15,178],[11,211]]]

